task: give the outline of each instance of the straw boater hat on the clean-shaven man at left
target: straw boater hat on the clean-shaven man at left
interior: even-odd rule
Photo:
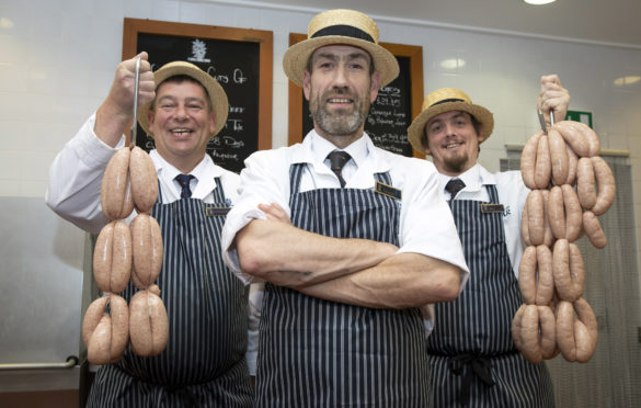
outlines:
[[[225,93],[225,90],[207,72],[196,67],[195,65],[185,61],[173,61],[165,64],[159,70],[153,72],[156,89],[158,89],[158,86],[165,79],[179,75],[185,75],[195,79],[207,90],[207,93],[209,94],[209,102],[211,103],[211,109],[216,114],[216,129],[211,135],[209,135],[209,137],[216,136],[227,123],[227,114],[229,113],[229,104],[227,102],[227,94]],[[153,136],[153,134],[149,132],[149,118],[147,117],[147,113],[150,109],[151,101],[147,102],[138,109],[138,123],[140,126],[142,126],[149,136]]]

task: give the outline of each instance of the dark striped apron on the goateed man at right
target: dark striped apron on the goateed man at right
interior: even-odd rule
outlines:
[[[495,185],[487,185],[499,203]],[[512,341],[512,318],[523,303],[505,246],[503,209],[451,200],[470,279],[454,302],[435,305],[427,339],[433,407],[553,407],[545,364],[531,364]]]

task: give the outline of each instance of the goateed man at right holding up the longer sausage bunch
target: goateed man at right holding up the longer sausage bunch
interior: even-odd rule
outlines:
[[[570,94],[557,76],[541,78],[538,106],[562,121]],[[460,296],[435,305],[427,338],[434,407],[553,407],[543,363],[526,361],[512,341],[523,304],[518,264],[520,214],[529,190],[519,171],[490,173],[477,162],[494,128],[492,113],[461,90],[430,93],[408,129],[412,147],[432,156],[439,190],[461,239],[470,280]]]

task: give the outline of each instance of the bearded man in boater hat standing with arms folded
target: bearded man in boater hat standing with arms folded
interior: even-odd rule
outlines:
[[[421,307],[468,276],[434,167],[374,146],[364,122],[398,73],[367,15],[331,10],[285,54],[314,127],[259,151],[222,234],[226,261],[266,281],[260,407],[425,407]]]

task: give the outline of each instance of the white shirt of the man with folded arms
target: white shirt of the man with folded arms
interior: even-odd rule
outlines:
[[[254,277],[241,271],[233,246],[236,234],[252,219],[266,219],[259,204],[276,203],[290,216],[289,168],[293,163],[307,163],[300,180],[300,192],[340,188],[336,175],[329,168],[327,156],[336,147],[311,131],[301,144],[279,149],[257,151],[245,160],[241,172],[240,197],[227,215],[222,229],[224,260],[244,282]],[[449,207],[438,193],[438,179],[434,165],[426,160],[407,158],[374,146],[364,134],[345,149],[353,160],[343,169],[345,188],[374,189],[374,173],[389,171],[392,184],[402,191],[399,203],[400,225],[397,253],[415,252],[440,259],[460,268],[460,288],[469,279]],[[257,281],[256,281],[257,282]],[[459,292],[460,293],[460,292]],[[252,291],[250,305],[260,317],[261,291]],[[432,327],[433,310],[424,307],[425,325]]]

